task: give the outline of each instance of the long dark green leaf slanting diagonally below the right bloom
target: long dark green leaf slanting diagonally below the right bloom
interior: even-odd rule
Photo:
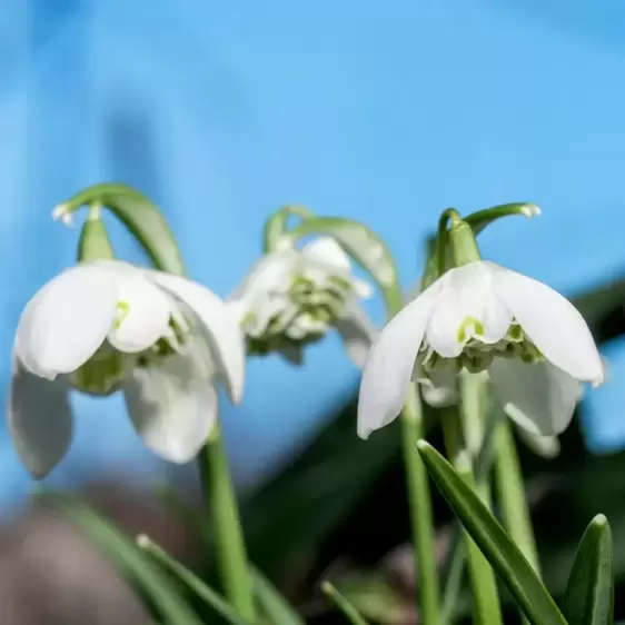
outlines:
[[[438,489],[530,623],[566,625],[564,616],[532,565],[472,487],[431,445],[420,440],[418,448]]]

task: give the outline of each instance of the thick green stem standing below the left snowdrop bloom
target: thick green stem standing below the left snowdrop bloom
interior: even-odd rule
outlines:
[[[252,581],[219,425],[215,426],[198,463],[205,503],[212,516],[217,569],[224,593],[246,621],[254,622]]]

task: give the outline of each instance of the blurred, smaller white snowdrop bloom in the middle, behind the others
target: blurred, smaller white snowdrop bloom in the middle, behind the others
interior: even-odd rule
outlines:
[[[358,299],[371,295],[371,285],[354,277],[343,248],[320,237],[301,249],[287,244],[264,256],[228,304],[250,354],[279,351],[299,364],[304,346],[336,327],[363,367],[375,329]]]

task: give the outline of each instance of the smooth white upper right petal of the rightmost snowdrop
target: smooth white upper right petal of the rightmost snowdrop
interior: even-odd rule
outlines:
[[[497,297],[545,358],[574,378],[602,384],[604,370],[599,353],[575,306],[537,280],[492,266]]]

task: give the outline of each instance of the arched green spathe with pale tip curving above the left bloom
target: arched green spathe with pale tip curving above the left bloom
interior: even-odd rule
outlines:
[[[69,217],[82,206],[103,206],[130,230],[157,269],[185,274],[178,244],[160,210],[142,194],[121,183],[88,187],[54,209],[57,217]]]

